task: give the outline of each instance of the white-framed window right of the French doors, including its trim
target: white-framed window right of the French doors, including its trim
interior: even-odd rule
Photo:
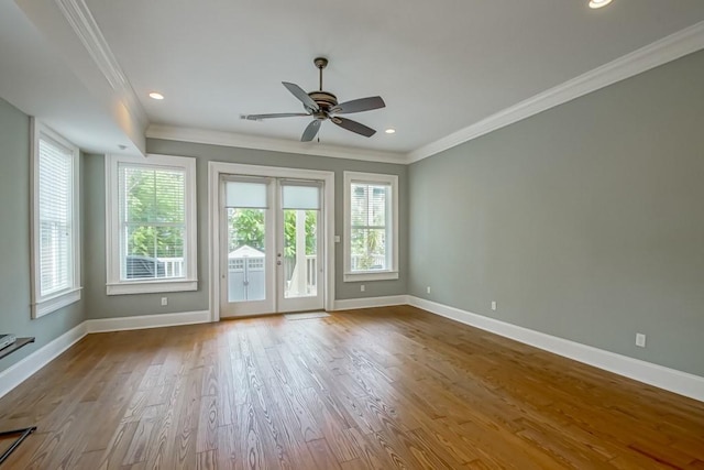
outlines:
[[[344,281],[398,278],[398,176],[344,172]]]

